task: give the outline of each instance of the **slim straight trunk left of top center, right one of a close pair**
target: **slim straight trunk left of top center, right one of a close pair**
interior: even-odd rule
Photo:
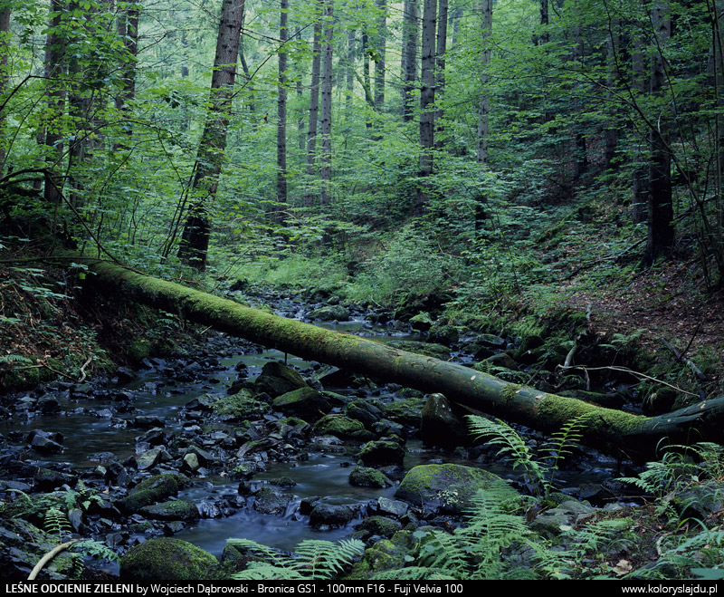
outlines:
[[[319,205],[331,203],[332,181],[332,44],[334,42],[334,0],[324,0],[324,37],[322,42],[322,98],[319,122]]]

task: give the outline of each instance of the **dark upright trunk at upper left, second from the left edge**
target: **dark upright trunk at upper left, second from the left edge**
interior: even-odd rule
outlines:
[[[62,116],[65,111],[65,72],[66,39],[59,33],[64,0],[50,0],[50,31],[45,39],[45,95],[48,98],[43,117],[45,153],[45,186],[43,197],[52,205],[62,201],[62,178],[59,169],[63,156],[64,130]]]

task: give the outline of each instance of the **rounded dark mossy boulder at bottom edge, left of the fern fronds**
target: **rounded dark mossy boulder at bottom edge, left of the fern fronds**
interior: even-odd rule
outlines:
[[[123,581],[203,581],[213,579],[219,563],[200,547],[164,537],[131,547],[120,560]]]

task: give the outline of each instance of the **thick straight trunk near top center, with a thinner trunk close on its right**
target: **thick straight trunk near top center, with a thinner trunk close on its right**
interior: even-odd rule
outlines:
[[[428,177],[433,173],[436,12],[436,1],[424,0],[420,91],[420,176],[422,177]]]

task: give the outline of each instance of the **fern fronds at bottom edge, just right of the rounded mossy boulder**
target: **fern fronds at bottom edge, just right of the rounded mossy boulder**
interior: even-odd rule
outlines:
[[[296,547],[295,554],[271,549],[250,539],[229,539],[236,545],[261,556],[263,562],[250,562],[246,570],[233,575],[238,580],[325,580],[344,570],[365,551],[357,539],[331,541],[307,539]]]

